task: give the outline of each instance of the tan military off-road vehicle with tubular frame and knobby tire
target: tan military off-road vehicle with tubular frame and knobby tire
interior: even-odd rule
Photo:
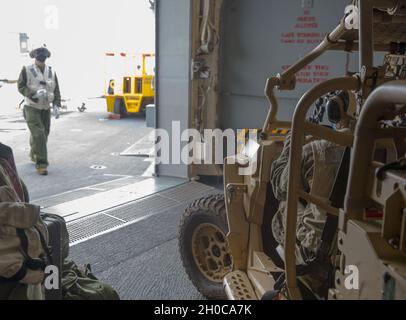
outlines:
[[[184,267],[205,297],[406,298],[405,43],[406,1],[354,1],[317,48],[268,80],[271,108],[256,152],[226,159],[224,196],[196,201],[181,221]],[[358,50],[359,71],[313,87],[292,122],[278,121],[274,91],[294,90],[295,74],[328,50]],[[382,66],[374,66],[375,53],[385,54]],[[343,92],[347,99],[340,98]],[[315,102],[316,116],[309,120]],[[345,130],[326,126],[325,112],[330,122],[347,119]],[[281,246],[271,230],[280,210],[271,168],[284,148],[284,139],[272,132],[283,128],[291,133]],[[327,199],[315,196],[314,186],[301,188],[304,145],[315,140],[345,150]],[[253,164],[252,175],[241,175]],[[302,205],[326,214],[317,254],[304,263],[297,254]]]

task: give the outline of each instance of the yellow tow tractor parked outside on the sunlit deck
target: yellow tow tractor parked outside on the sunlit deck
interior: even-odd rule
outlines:
[[[108,112],[120,116],[143,114],[147,105],[154,103],[155,76],[147,73],[147,59],[154,58],[155,54],[142,55],[142,74],[123,77],[121,92],[115,89],[114,80],[109,81],[105,94]]]

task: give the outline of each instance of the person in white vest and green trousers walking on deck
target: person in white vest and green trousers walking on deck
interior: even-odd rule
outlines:
[[[30,53],[34,64],[24,67],[18,80],[18,91],[25,97],[25,117],[30,137],[30,157],[40,175],[48,174],[47,142],[51,127],[51,104],[61,105],[58,78],[54,70],[45,64],[51,56],[41,47]]]

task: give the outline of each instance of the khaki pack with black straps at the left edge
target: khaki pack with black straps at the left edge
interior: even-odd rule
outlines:
[[[19,178],[13,151],[0,143],[0,299],[41,300],[47,230]]]

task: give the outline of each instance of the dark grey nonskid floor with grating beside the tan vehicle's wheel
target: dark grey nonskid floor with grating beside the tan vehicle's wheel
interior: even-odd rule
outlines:
[[[71,257],[90,263],[122,299],[202,299],[180,261],[178,225],[190,202],[216,193],[188,182],[73,220]]]

